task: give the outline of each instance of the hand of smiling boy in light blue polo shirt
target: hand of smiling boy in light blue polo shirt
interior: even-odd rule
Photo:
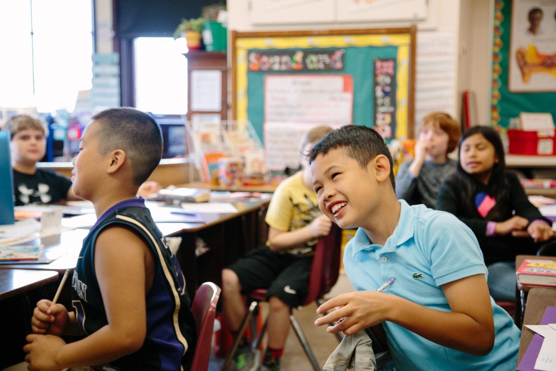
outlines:
[[[388,303],[386,298],[392,297],[376,291],[356,291],[353,293],[340,294],[336,298],[326,301],[317,308],[316,313],[324,313],[326,310],[341,306],[340,309],[325,315],[315,321],[315,326],[336,322],[334,326],[326,329],[329,333],[343,331],[346,335],[382,323],[388,319]],[[346,317],[337,323],[341,318]]]

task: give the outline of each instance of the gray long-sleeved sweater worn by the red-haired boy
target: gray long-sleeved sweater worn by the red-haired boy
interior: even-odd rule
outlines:
[[[455,172],[456,161],[448,159],[445,164],[425,161],[418,177],[409,171],[411,161],[400,165],[396,174],[396,196],[410,205],[424,204],[430,209],[436,206],[436,196],[440,186]]]

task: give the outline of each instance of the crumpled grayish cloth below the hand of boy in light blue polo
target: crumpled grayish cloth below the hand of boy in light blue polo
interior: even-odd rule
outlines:
[[[371,345],[371,339],[365,330],[354,335],[345,335],[322,369],[324,371],[374,371],[376,360]]]

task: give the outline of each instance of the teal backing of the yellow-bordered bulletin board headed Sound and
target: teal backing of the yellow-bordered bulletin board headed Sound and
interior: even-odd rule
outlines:
[[[337,49],[337,48],[336,48]],[[247,115],[253,125],[255,132],[261,142],[263,140],[262,126],[264,123],[264,78],[266,75],[294,75],[296,73],[307,75],[312,74],[331,74],[331,75],[351,75],[353,77],[353,123],[357,125],[374,126],[374,58],[392,58],[395,61],[395,69],[398,65],[396,58],[398,55],[397,46],[366,46],[366,47],[344,47],[344,69],[340,71],[319,71],[319,72],[247,72]],[[295,50],[295,49],[287,49]],[[311,50],[304,48],[304,50]],[[315,50],[323,50],[316,48]],[[326,49],[335,50],[335,49]],[[266,49],[251,51],[269,52],[285,51],[285,49]]]

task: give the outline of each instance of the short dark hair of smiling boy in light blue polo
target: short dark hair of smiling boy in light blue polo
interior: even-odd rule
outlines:
[[[324,137],[312,147],[307,155],[309,163],[318,155],[326,155],[328,151],[343,148],[347,156],[358,162],[361,169],[366,169],[369,161],[378,155],[384,155],[390,162],[390,182],[396,189],[393,161],[384,139],[374,129],[361,125],[342,126]]]

